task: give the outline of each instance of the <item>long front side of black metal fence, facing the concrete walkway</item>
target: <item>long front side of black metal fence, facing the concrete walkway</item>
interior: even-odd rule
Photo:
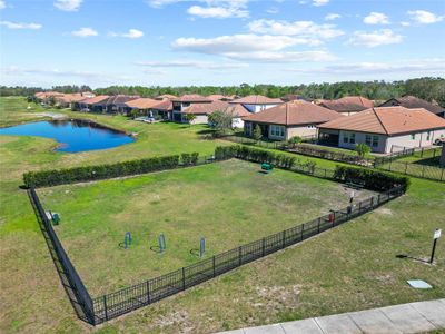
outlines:
[[[384,194],[364,199],[354,206],[332,212],[308,223],[215,255],[194,265],[93,298],[95,323],[99,324],[145,305],[152,304],[244,264],[300,243],[314,235],[365,214],[402,194],[402,188],[394,188]]]

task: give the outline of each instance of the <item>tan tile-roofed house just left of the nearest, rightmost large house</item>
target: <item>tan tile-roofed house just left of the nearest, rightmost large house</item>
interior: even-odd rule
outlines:
[[[310,104],[294,100],[287,104],[250,114],[244,118],[245,135],[251,136],[258,125],[263,137],[273,140],[288,140],[291,137],[315,136],[317,125],[344,118],[337,111]]]

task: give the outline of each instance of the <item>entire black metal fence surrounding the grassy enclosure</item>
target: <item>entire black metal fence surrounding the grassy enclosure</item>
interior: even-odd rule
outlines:
[[[198,165],[214,161],[212,157],[201,157]],[[322,178],[333,178],[334,170],[314,168],[312,166],[296,165],[293,171],[310,174]],[[227,273],[244,264],[264,257],[268,254],[286,248],[290,245],[303,242],[314,235],[338,226],[352,218],[365,214],[404,193],[402,187],[396,187],[389,191],[372,196],[353,206],[339,210],[333,210],[327,215],[318,217],[308,223],[281,230],[256,242],[236,247],[231,250],[221,253],[210,258],[200,261],[187,267],[182,267],[159,277],[145,281],[120,291],[91,298],[86,286],[80,279],[68,255],[66,254],[60,240],[58,239],[51,222],[34,189],[29,189],[29,194],[37,213],[43,222],[44,229],[50,237],[51,245],[61,263],[62,269],[68,277],[68,282],[76,294],[79,305],[82,307],[83,316],[81,320],[97,325],[129,313],[139,307],[152,304],[189,287],[211,279],[218,275]]]

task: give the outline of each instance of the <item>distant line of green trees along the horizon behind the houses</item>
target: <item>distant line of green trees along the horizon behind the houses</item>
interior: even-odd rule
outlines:
[[[0,87],[0,96],[29,96],[42,90],[36,87]],[[91,91],[88,86],[55,86],[50,90],[61,92]],[[312,99],[337,99],[344,96],[363,96],[373,100],[387,100],[392,97],[413,95],[428,101],[435,100],[445,106],[445,78],[418,78],[400,81],[344,81],[335,84],[310,84],[295,86],[248,85],[240,86],[110,86],[92,90],[97,95],[137,95],[156,97],[164,94],[180,96],[184,94],[200,95],[264,95],[271,98],[287,94],[299,95]]]

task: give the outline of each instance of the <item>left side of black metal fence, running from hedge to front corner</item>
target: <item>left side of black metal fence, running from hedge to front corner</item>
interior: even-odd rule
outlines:
[[[88,293],[82,279],[80,279],[79,274],[76,272],[75,266],[71,264],[67,253],[65,252],[55,229],[52,228],[51,222],[48,219],[47,214],[40,204],[39,197],[34,189],[28,190],[29,197],[32,200],[32,205],[39,215],[39,218],[43,225],[44,232],[47,233],[52,249],[58,257],[58,263],[61,265],[61,271],[63,271],[65,277],[68,279],[68,284],[71,291],[75,293],[78,305],[81,307],[81,313],[78,313],[81,320],[87,323],[95,324],[95,310],[93,303]]]

